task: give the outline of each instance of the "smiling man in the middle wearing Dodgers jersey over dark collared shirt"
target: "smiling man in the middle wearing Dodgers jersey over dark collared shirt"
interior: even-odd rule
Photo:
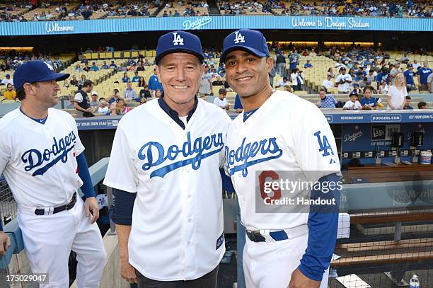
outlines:
[[[197,36],[162,35],[155,63],[163,97],[122,117],[104,181],[115,188],[120,274],[146,288],[216,287],[230,118],[196,96],[204,71]]]

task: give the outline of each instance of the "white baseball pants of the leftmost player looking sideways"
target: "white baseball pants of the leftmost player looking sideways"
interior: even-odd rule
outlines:
[[[79,288],[98,287],[105,265],[105,249],[98,225],[84,213],[77,195],[75,206],[51,215],[35,215],[35,207],[18,207],[18,225],[33,273],[48,273],[41,288],[69,287],[68,260],[76,252]]]

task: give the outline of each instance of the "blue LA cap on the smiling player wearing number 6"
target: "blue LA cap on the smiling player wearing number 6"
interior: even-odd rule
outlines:
[[[223,42],[219,62],[226,62],[226,56],[233,50],[246,50],[257,57],[269,57],[265,36],[260,31],[241,29],[230,33]]]

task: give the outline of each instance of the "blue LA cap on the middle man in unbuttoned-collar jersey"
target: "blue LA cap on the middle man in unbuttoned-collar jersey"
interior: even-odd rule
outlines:
[[[162,35],[156,46],[155,64],[166,54],[175,52],[186,52],[197,56],[203,62],[203,50],[200,38],[196,35],[178,30]]]

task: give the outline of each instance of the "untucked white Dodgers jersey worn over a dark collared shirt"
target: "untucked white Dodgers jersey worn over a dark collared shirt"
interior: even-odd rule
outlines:
[[[197,279],[224,255],[219,167],[229,122],[200,99],[185,129],[157,99],[120,120],[104,184],[137,192],[129,263],[145,277]]]

